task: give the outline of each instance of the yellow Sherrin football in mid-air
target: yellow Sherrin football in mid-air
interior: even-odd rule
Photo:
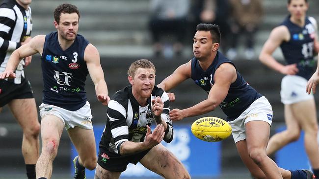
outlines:
[[[232,127],[218,117],[202,117],[191,125],[191,132],[207,142],[218,142],[232,134]]]

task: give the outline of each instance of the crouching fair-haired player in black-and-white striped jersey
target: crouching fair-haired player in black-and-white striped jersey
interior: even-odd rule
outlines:
[[[95,179],[118,179],[129,163],[140,162],[165,179],[190,179],[183,164],[162,144],[173,140],[169,98],[155,85],[155,67],[145,59],[128,70],[131,85],[108,103]],[[151,124],[156,128],[151,133]]]

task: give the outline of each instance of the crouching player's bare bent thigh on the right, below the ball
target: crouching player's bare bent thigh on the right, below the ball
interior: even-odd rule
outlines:
[[[153,147],[139,162],[165,179],[190,179],[183,164],[162,144]]]

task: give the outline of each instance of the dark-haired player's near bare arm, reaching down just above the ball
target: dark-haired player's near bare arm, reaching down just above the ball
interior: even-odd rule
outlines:
[[[182,120],[185,117],[201,115],[213,111],[227,96],[230,85],[237,79],[237,72],[232,64],[220,65],[214,75],[214,85],[208,94],[208,98],[193,107],[169,112],[172,120]]]

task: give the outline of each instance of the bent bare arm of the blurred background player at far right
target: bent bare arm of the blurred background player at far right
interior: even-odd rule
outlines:
[[[280,46],[282,42],[287,42],[290,40],[290,33],[286,26],[281,25],[274,28],[265,45],[262,48],[262,51],[259,55],[259,60],[265,64],[267,67],[274,69],[282,74],[294,75],[298,72],[297,64],[291,65],[282,65],[277,62],[273,57],[272,53]]]

